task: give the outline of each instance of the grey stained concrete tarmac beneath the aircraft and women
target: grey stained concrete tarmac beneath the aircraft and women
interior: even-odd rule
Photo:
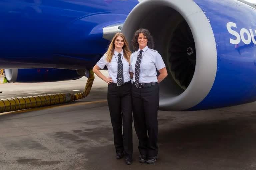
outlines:
[[[107,72],[104,72],[107,74]],[[86,78],[0,84],[0,98],[77,93]],[[75,91],[74,91],[75,90]],[[78,90],[78,91],[77,91]],[[256,168],[256,103],[193,112],[158,112],[159,159],[131,165],[115,159],[107,84],[69,104],[0,115],[0,170],[249,170]]]

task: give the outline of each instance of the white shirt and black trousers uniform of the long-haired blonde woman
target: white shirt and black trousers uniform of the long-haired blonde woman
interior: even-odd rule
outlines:
[[[120,55],[121,54],[121,55]],[[123,57],[123,51],[118,54],[114,51],[111,62],[106,61],[104,55],[97,63],[103,69],[108,68],[109,77],[113,83],[108,85],[107,99],[110,112],[111,123],[114,132],[114,145],[116,153],[123,153],[132,158],[132,98],[131,98],[131,78],[129,73],[129,62]],[[120,55],[120,58],[119,58]],[[122,60],[123,65],[123,83],[118,86],[118,61]],[[123,118],[123,134],[122,134]]]

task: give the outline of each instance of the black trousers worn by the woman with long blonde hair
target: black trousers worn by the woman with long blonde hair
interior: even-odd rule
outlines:
[[[111,83],[107,95],[116,153],[124,152],[130,158],[133,153],[131,86],[131,83],[122,86]]]

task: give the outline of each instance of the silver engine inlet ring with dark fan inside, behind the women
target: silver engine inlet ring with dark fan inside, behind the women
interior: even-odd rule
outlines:
[[[139,28],[151,32],[168,71],[160,83],[160,110],[185,110],[200,103],[217,70],[215,38],[202,9],[192,0],[142,1],[127,17],[122,32],[131,42]]]

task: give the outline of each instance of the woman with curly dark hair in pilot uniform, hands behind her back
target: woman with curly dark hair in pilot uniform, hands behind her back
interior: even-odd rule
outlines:
[[[131,55],[130,74],[133,76],[133,119],[139,139],[139,162],[153,164],[158,154],[158,83],[167,76],[167,70],[161,55],[152,49],[153,37],[147,29],[137,30],[132,44],[137,50]]]

